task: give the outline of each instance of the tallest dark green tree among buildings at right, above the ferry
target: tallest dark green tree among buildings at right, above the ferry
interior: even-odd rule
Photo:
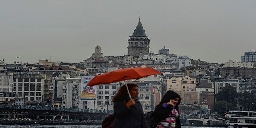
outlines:
[[[216,101],[226,101],[232,103],[233,106],[236,106],[239,99],[239,94],[236,91],[235,87],[232,87],[230,84],[226,84],[222,91],[219,91],[215,95]]]

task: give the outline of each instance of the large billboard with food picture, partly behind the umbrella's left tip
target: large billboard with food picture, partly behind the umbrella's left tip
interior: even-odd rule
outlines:
[[[86,85],[93,79],[94,76],[81,76],[81,95],[82,101],[96,100],[96,86],[86,87]]]

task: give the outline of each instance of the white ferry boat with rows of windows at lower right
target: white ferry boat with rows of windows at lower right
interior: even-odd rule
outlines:
[[[230,111],[229,128],[256,128],[256,111]]]

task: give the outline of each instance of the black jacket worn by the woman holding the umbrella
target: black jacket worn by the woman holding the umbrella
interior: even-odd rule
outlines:
[[[144,116],[141,104],[135,100],[136,104],[127,108],[125,103],[129,101],[117,101],[114,103],[114,116],[116,121],[112,128],[149,128]]]

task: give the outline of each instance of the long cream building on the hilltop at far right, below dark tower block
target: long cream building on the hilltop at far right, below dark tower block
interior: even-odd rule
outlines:
[[[238,62],[238,61],[234,61],[234,60],[230,60],[228,62],[226,62],[222,68],[226,68],[226,67],[245,67],[245,68],[253,68],[255,67],[253,62]]]

